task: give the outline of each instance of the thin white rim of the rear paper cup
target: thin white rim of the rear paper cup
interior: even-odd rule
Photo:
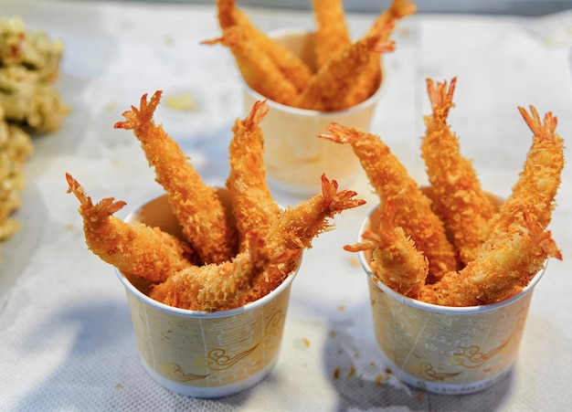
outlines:
[[[285,35],[309,35],[312,34],[313,31],[303,27],[282,27],[271,30],[268,33],[268,36],[271,38],[285,36]],[[379,100],[381,95],[387,89],[387,79],[386,79],[386,70],[383,68],[382,65],[382,77],[381,81],[379,82],[379,87],[377,88],[376,92],[369,96],[367,99],[360,101],[355,106],[352,106],[348,109],[344,109],[342,111],[314,111],[310,109],[300,109],[297,107],[288,106],[286,104],[279,103],[278,101],[270,100],[266,96],[261,95],[258,91],[252,89],[246,81],[240,76],[240,81],[242,82],[242,86],[244,90],[246,90],[249,95],[254,98],[254,100],[266,100],[267,104],[270,106],[271,109],[276,109],[280,111],[287,111],[291,114],[295,114],[301,117],[337,117],[337,116],[344,116],[346,114],[351,114],[354,111],[360,111],[363,109],[364,106],[372,105],[376,100]]]

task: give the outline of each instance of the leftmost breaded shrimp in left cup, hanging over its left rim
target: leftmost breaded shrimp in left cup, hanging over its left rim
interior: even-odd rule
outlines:
[[[123,274],[157,283],[196,261],[189,245],[158,227],[147,227],[140,222],[128,224],[113,217],[125,202],[107,197],[93,205],[76,179],[66,174],[66,180],[68,193],[79,200],[88,248]]]

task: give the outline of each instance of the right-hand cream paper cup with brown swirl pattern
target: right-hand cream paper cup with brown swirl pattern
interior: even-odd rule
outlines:
[[[365,229],[376,225],[376,210]],[[376,340],[403,382],[440,394],[480,391],[507,375],[518,354],[538,273],[523,291],[498,303],[447,307],[405,297],[376,280],[371,252],[359,253],[369,284]]]

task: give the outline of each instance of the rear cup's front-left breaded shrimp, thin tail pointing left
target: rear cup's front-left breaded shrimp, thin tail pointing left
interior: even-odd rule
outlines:
[[[268,55],[261,52],[258,43],[247,36],[242,26],[229,26],[222,37],[202,43],[228,47],[237,61],[242,78],[252,90],[281,104],[292,106],[295,103],[298,89],[292,80],[281,72]]]

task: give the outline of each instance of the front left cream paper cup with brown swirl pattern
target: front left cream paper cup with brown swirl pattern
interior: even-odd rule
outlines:
[[[166,196],[126,220],[180,233]],[[145,370],[160,385],[186,396],[228,396],[254,386],[276,364],[294,276],[237,309],[196,312],[154,301],[147,296],[148,284],[118,272]]]

